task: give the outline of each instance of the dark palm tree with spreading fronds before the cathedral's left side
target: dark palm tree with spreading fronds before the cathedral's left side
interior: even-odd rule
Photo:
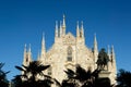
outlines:
[[[15,66],[24,74],[15,76],[15,87],[50,87],[51,77],[44,74],[50,65],[43,65],[39,61],[33,61],[28,66]],[[40,78],[38,78],[40,77]]]

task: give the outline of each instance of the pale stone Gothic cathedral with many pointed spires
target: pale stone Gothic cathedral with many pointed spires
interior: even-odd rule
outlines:
[[[56,22],[55,26],[55,42],[51,48],[46,50],[45,37],[41,39],[41,51],[38,54],[37,60],[41,61],[43,64],[50,65],[46,71],[47,75],[62,82],[67,77],[64,71],[67,69],[75,70],[75,65],[80,64],[83,69],[91,69],[94,71],[97,67],[96,61],[98,59],[98,46],[96,35],[94,35],[94,47],[90,49],[85,45],[84,27],[83,22],[81,26],[76,24],[76,36],[72,33],[67,33],[66,16],[63,15],[60,25]],[[48,36],[47,36],[48,37]],[[108,47],[107,54],[111,61],[108,62],[107,72],[102,72],[100,77],[109,77],[111,84],[116,83],[116,57],[114,46]],[[31,48],[26,50],[24,48],[23,64],[28,65],[32,61]]]

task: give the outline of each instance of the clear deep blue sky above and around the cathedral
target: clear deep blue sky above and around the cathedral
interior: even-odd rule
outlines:
[[[131,71],[130,0],[0,0],[0,62],[11,71],[8,78],[20,74],[14,65],[23,62],[24,45],[32,45],[33,58],[40,50],[43,32],[46,47],[53,44],[55,22],[66,14],[67,32],[75,35],[76,21],[84,22],[86,46],[114,45],[117,67]]]

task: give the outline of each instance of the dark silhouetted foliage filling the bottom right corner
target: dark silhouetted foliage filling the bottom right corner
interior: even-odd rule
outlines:
[[[131,72],[119,70],[117,83],[117,87],[131,87]]]

